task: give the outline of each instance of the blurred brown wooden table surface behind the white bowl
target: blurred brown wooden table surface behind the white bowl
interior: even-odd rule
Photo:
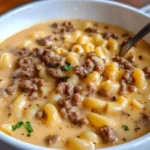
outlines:
[[[0,15],[17,6],[33,1],[35,0],[0,0]],[[138,8],[150,4],[150,0],[115,0],[115,1],[126,3]]]

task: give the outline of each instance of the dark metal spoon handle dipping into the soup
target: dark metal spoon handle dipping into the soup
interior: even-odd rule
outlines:
[[[121,51],[119,52],[119,56],[123,57],[136,42],[142,39],[149,32],[150,32],[150,22],[146,26],[144,26],[131,40],[129,40],[122,47]]]

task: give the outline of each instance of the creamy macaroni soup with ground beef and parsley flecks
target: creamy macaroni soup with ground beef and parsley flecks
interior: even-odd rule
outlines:
[[[150,131],[150,44],[89,20],[37,24],[0,43],[0,130],[44,147],[94,150]]]

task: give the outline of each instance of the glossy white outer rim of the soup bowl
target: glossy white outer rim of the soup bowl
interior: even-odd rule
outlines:
[[[0,16],[0,22],[2,22],[4,19],[6,19],[7,17],[15,14],[15,13],[19,13],[20,11],[22,10],[26,10],[30,7],[32,7],[34,4],[39,4],[39,3],[45,3],[47,2],[48,0],[45,0],[45,1],[34,1],[34,2],[30,2],[30,3],[27,3],[27,4],[24,4],[22,6],[18,6],[6,13],[4,13],[3,15]],[[137,14],[140,14],[144,17],[147,17],[147,18],[150,18],[150,16],[148,16],[146,13],[140,11],[139,9],[135,8],[135,7],[132,7],[130,5],[127,5],[127,4],[122,4],[122,3],[119,3],[119,2],[116,2],[116,1],[108,1],[108,0],[51,0],[51,1],[48,1],[50,3],[53,3],[53,2],[59,2],[59,1],[64,1],[64,2],[83,2],[83,1],[87,1],[87,2],[99,2],[99,3],[103,3],[103,4],[110,4],[110,5],[114,5],[114,6],[118,6],[118,7],[121,7],[121,8],[125,8],[125,9],[129,9],[133,12],[136,12]],[[32,150],[56,150],[56,148],[46,148],[46,147],[42,147],[42,146],[38,146],[38,145],[34,145],[34,144],[30,144],[30,143],[27,143],[27,142],[24,142],[24,141],[21,141],[19,139],[16,139],[16,138],[13,138],[12,136],[10,135],[7,135],[5,134],[4,132],[0,131],[0,140],[3,141],[4,143],[8,144],[8,145],[12,145],[16,148],[20,148],[20,149],[32,149]],[[129,141],[127,143],[123,143],[123,144],[119,144],[119,145],[115,145],[115,146],[111,146],[111,147],[106,147],[106,148],[98,148],[97,150],[116,150],[116,149],[120,149],[120,148],[132,148],[134,146],[138,146],[146,141],[149,141],[150,140],[150,133],[147,133],[135,140],[132,140],[132,141]]]

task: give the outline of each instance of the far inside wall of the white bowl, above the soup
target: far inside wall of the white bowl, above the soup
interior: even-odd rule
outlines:
[[[118,15],[119,14],[119,15]],[[20,7],[0,18],[0,41],[36,23],[51,19],[90,19],[121,26],[133,33],[149,22],[138,10],[101,0],[50,0]],[[146,37],[148,40],[150,36]]]

